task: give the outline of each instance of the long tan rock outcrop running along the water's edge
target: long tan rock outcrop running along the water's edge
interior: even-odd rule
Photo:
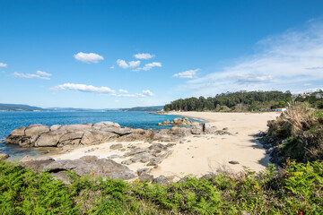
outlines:
[[[30,125],[13,130],[5,139],[7,143],[19,144],[22,147],[61,147],[73,148],[80,145],[95,145],[103,142],[179,142],[190,134],[215,133],[214,126],[196,122],[191,123],[188,118],[176,118],[172,125],[193,125],[188,127],[174,126],[171,129],[134,129],[124,127],[113,122],[100,122],[94,125]],[[222,133],[228,133],[222,131]]]

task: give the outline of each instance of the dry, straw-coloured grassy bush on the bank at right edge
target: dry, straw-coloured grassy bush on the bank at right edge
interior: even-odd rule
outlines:
[[[298,162],[323,159],[323,110],[296,102],[276,120],[268,122],[268,136],[279,155]]]

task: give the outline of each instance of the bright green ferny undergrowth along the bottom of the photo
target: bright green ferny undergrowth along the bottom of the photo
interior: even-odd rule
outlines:
[[[1,214],[322,214],[323,162],[158,185],[48,173],[0,160]]]

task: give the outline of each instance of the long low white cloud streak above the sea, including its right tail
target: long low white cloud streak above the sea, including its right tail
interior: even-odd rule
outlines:
[[[91,93],[101,93],[109,94],[111,97],[118,98],[145,98],[153,97],[153,92],[151,90],[143,90],[142,93],[129,94],[127,90],[119,89],[118,91],[122,94],[117,94],[116,90],[111,90],[109,87],[95,87],[92,85],[86,85],[83,83],[64,83],[57,85],[50,90],[63,91],[63,90],[77,90],[81,92],[91,92]]]

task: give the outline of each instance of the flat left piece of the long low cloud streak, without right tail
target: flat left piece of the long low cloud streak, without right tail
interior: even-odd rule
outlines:
[[[50,90],[78,90],[83,92],[94,92],[94,93],[115,93],[115,90],[109,89],[109,87],[94,87],[92,85],[86,85],[81,83],[64,83],[51,88]]]

